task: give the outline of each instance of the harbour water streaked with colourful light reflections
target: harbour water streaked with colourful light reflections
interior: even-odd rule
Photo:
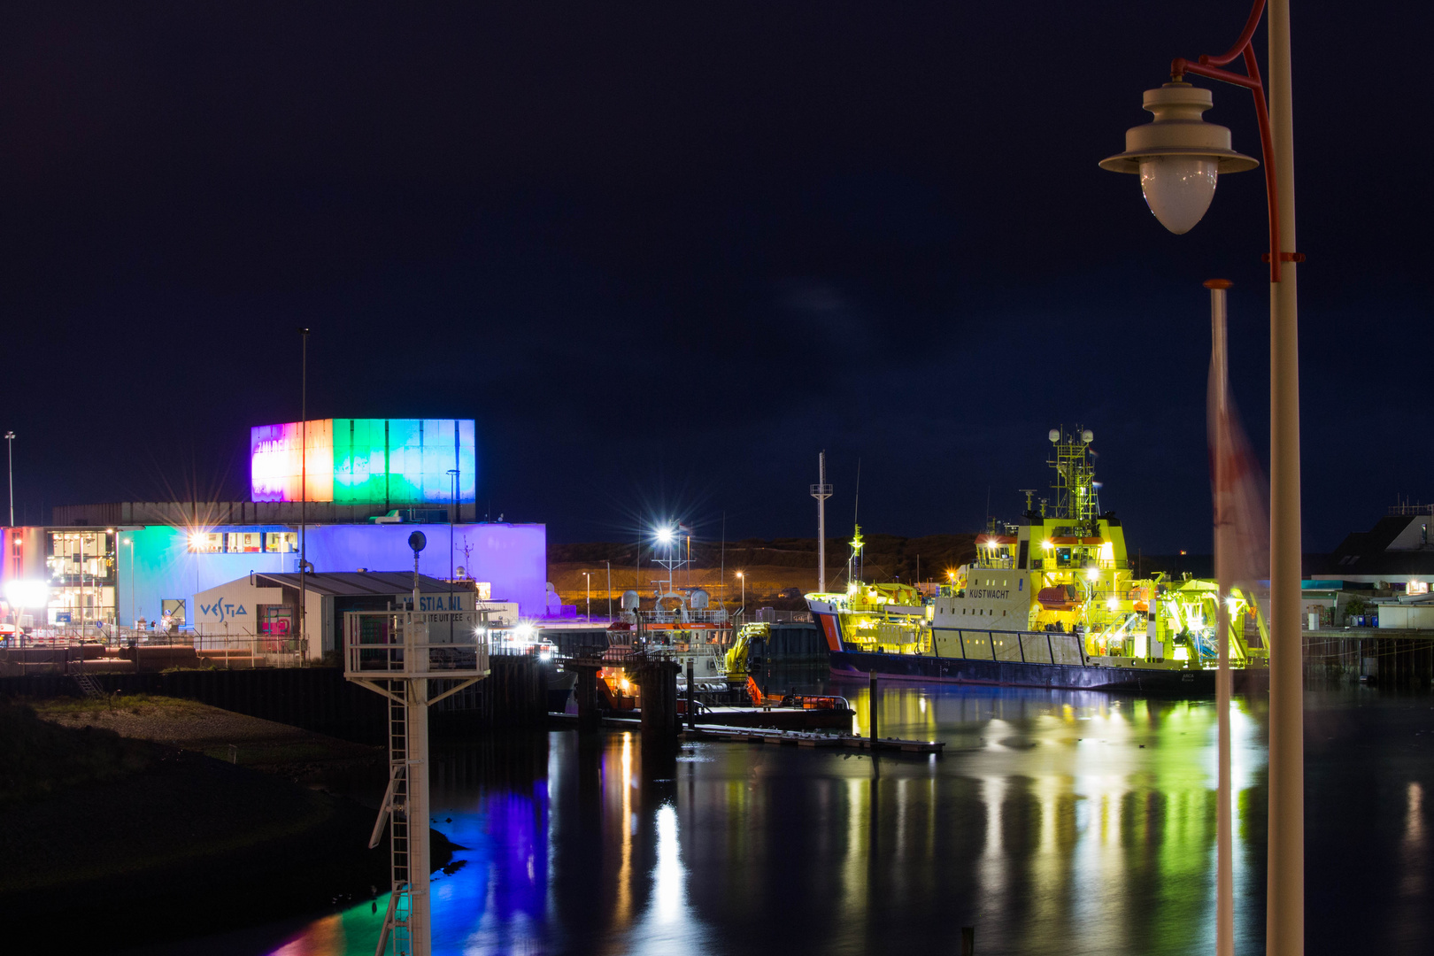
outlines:
[[[843,692],[865,728],[865,687]],[[961,926],[982,953],[1213,949],[1212,702],[893,685],[878,707],[883,735],[946,754],[654,758],[634,734],[562,731],[439,757],[433,816],[467,849],[433,881],[435,953],[954,952]],[[1263,949],[1263,708],[1236,701],[1232,720],[1239,952]],[[1427,785],[1398,784],[1391,831],[1411,914]],[[272,952],[371,953],[384,903]]]

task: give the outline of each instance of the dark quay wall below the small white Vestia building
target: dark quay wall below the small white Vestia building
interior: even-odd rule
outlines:
[[[549,668],[532,656],[493,656],[492,674],[439,701],[429,714],[435,737],[463,737],[489,730],[539,728],[548,715]],[[386,701],[350,684],[338,668],[255,671],[165,671],[90,675],[106,694],[156,694],[209,704],[237,714],[290,724],[360,744],[383,744]],[[433,681],[440,694],[445,681]],[[0,678],[0,697],[79,697],[75,678],[30,674]]]

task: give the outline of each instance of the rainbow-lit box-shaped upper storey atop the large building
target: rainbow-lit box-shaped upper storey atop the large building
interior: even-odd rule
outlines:
[[[250,429],[250,499],[338,505],[449,505],[478,494],[472,419],[318,419]],[[308,493],[301,494],[307,474]]]

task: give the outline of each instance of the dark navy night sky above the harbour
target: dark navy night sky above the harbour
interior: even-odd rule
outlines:
[[[1306,550],[1431,500],[1425,4],[1298,1]],[[1189,3],[9,4],[16,517],[248,496],[248,429],[472,417],[559,542],[978,530],[1094,430],[1134,548],[1209,550],[1209,305],[1268,441],[1262,176],[1167,234],[1100,171]],[[1265,32],[1256,36],[1263,64]],[[1259,155],[1249,93],[1206,119]]]

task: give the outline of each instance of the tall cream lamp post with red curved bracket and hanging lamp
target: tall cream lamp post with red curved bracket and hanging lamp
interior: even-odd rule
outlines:
[[[1184,83],[1186,75],[1250,90],[1265,158],[1269,211],[1269,466],[1271,466],[1271,641],[1269,641],[1269,884],[1266,952],[1298,956],[1305,950],[1305,744],[1302,638],[1299,632],[1299,322],[1295,244],[1295,158],[1289,66],[1289,0],[1269,3],[1269,100],[1250,39],[1265,11],[1255,0],[1239,39],[1222,56],[1177,57],[1172,82],[1146,90],[1154,120],[1126,133],[1126,152],[1101,161],[1113,172],[1139,173],[1150,211],[1172,232],[1190,229],[1215,195],[1222,172],[1258,163],[1230,149],[1229,130],[1200,119],[1209,90]],[[1220,69],[1243,59],[1245,73]],[[1228,714],[1220,727],[1222,775],[1229,780]],[[1226,823],[1222,849],[1229,853]],[[1220,879],[1220,896],[1229,894]],[[1220,912],[1223,910],[1223,912]],[[1217,904],[1216,952],[1233,952],[1228,907]]]

